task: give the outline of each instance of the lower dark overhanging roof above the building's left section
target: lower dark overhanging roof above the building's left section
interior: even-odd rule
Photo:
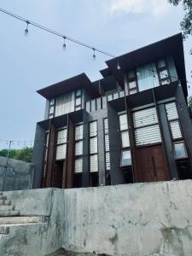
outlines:
[[[99,92],[90,82],[90,79],[86,76],[85,73],[81,73],[71,79],[66,79],[59,83],[50,85],[41,90],[37,90],[38,94],[44,96],[46,99],[53,98],[55,96],[59,96],[67,93],[70,90],[76,90],[79,88],[84,88],[89,92],[89,95],[92,98],[96,98],[99,95]]]

